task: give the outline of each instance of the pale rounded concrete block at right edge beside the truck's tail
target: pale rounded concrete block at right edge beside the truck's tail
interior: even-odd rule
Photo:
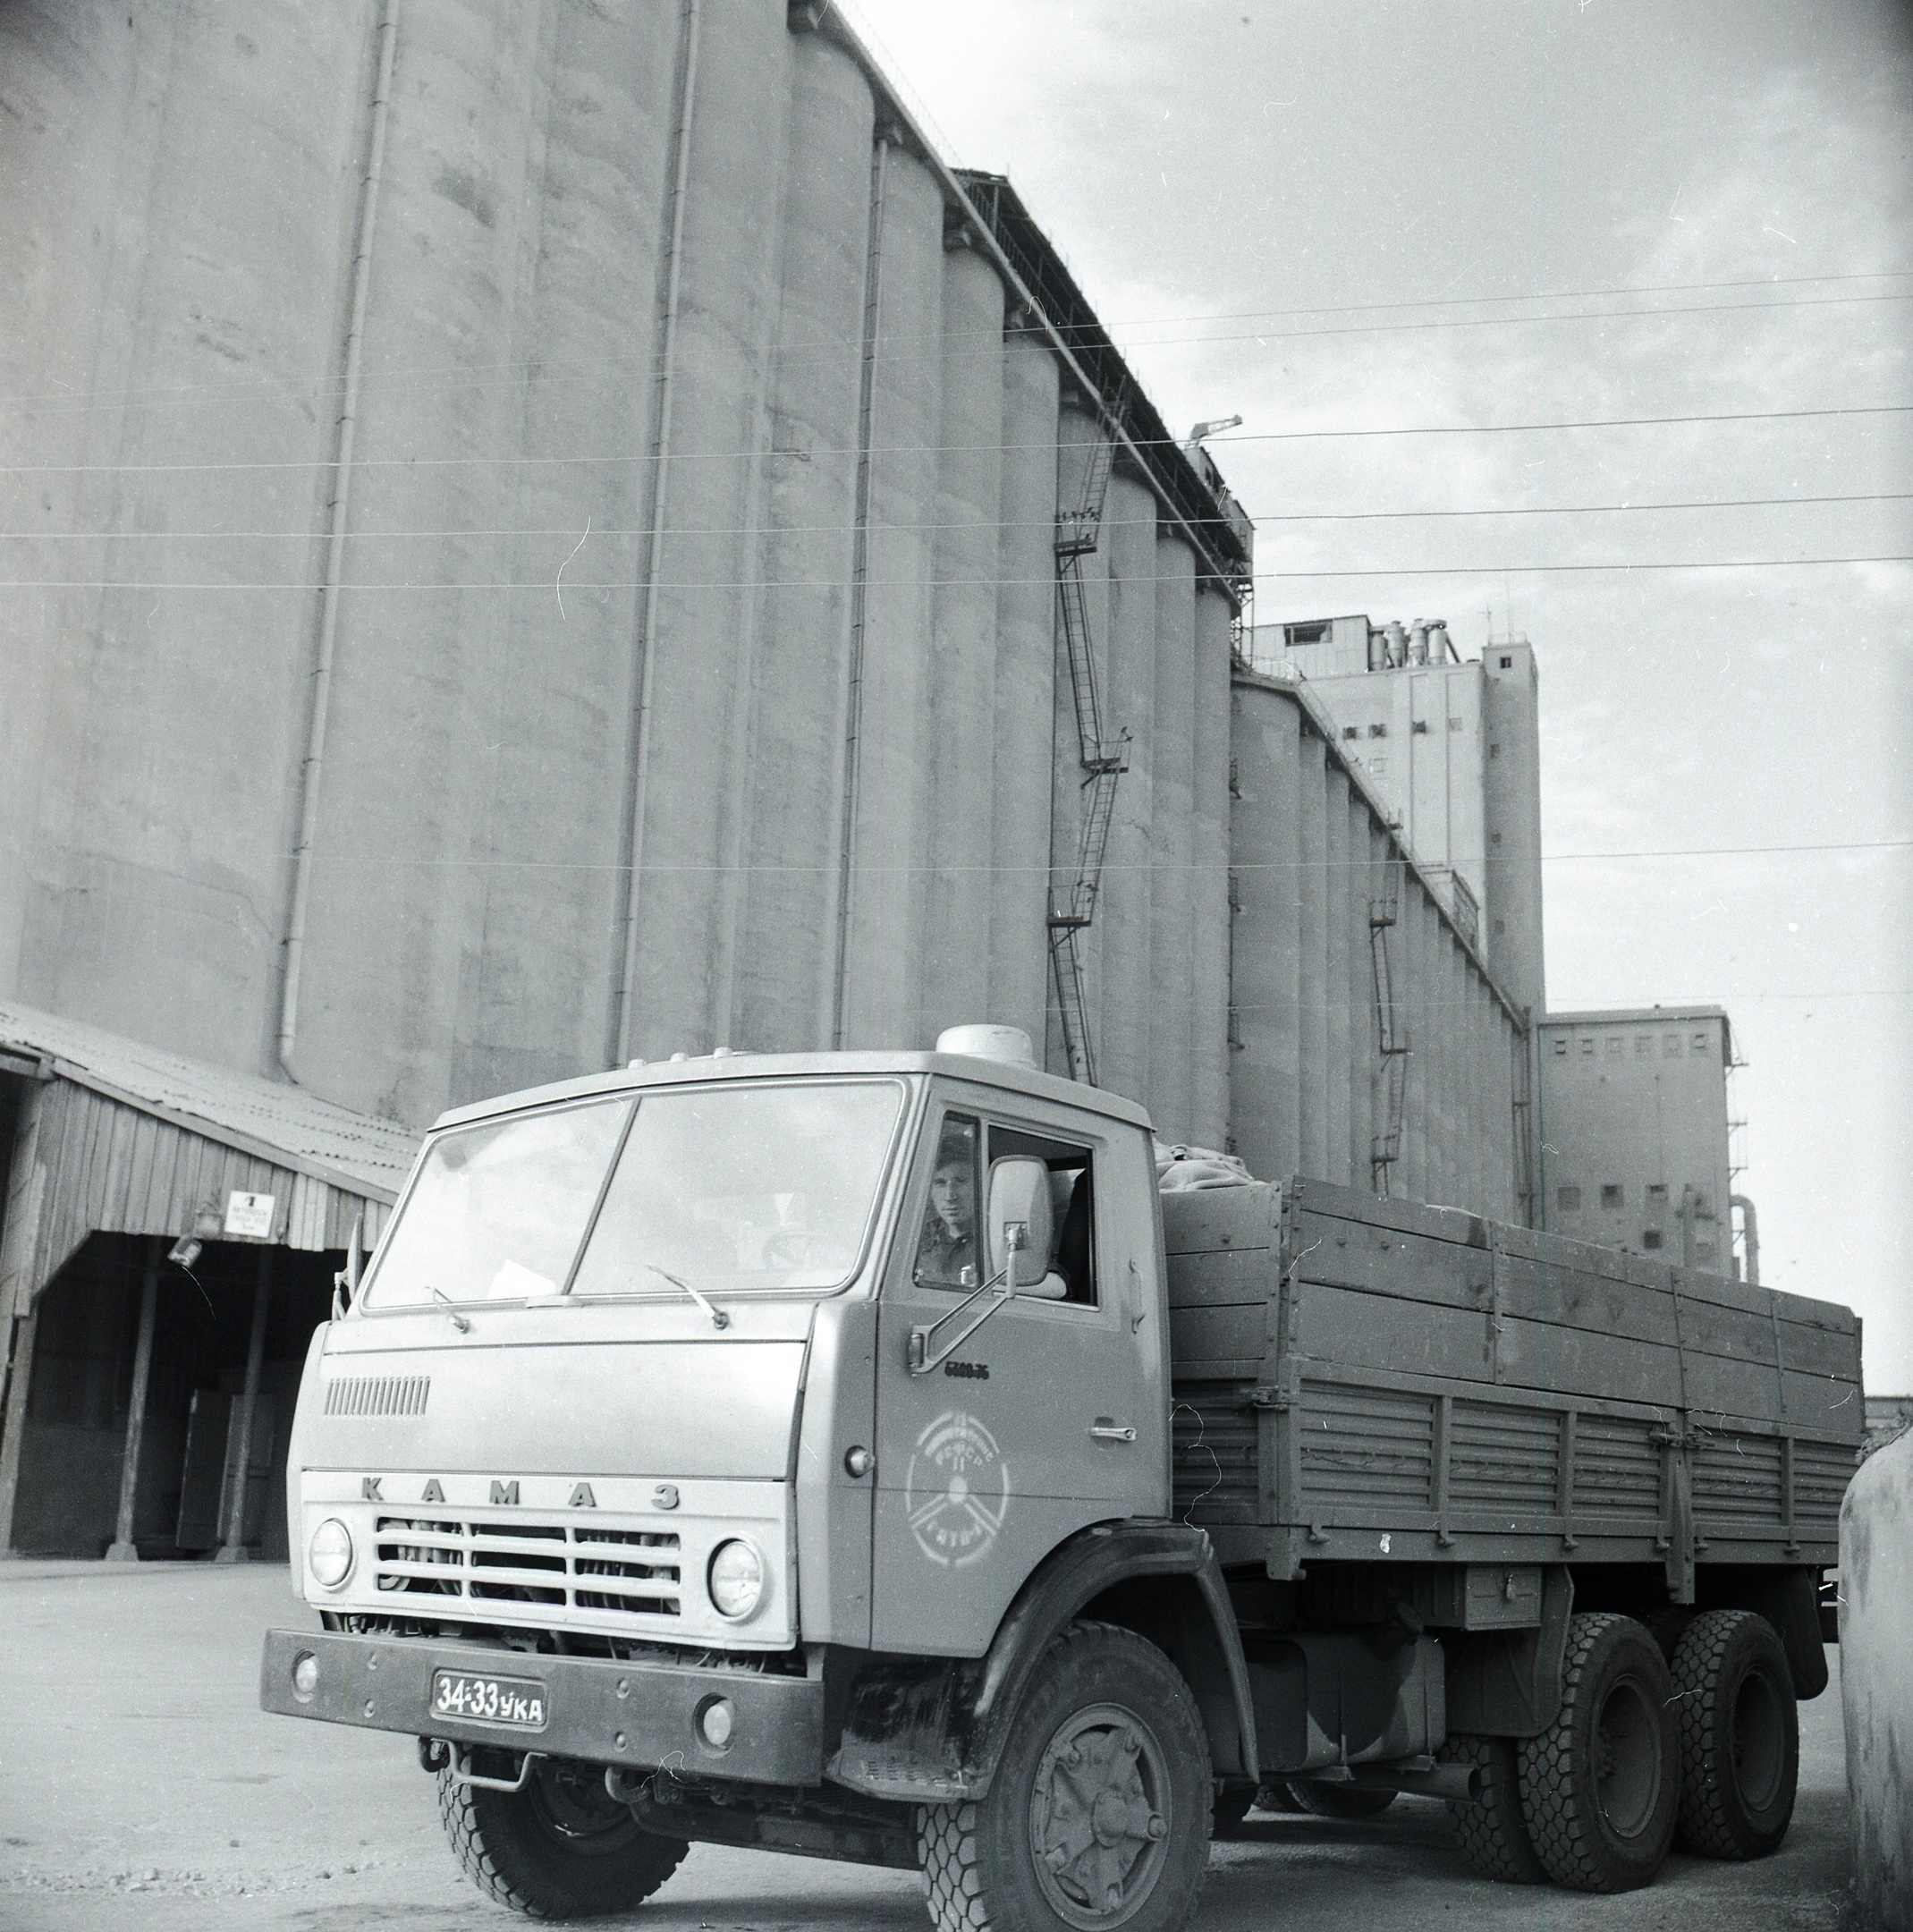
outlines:
[[[1840,1696],[1853,1891],[1867,1932],[1913,1932],[1913,1435],[1870,1455],[1840,1507]]]

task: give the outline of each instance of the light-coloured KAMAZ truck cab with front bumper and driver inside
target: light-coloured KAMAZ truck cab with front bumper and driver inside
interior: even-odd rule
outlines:
[[[835,1855],[916,1862],[914,1801],[974,1795],[989,1747],[899,1710],[974,1729],[1059,1553],[1096,1542],[1090,1578],[1154,1526],[1225,1621],[1169,1522],[1148,1115],[1001,1028],[939,1049],[444,1115],[305,1364],[288,1520],[325,1634],[272,1633],[267,1708],[412,1731],[477,1812],[560,1764],[580,1816],[682,1843],[769,1785]],[[1138,1816],[1154,1847],[1161,1797]],[[578,1895],[545,1862],[514,1903]]]

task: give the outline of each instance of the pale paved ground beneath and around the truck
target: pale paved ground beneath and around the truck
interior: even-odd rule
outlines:
[[[6,1932],[504,1932],[439,1835],[410,1739],[267,1718],[259,1633],[303,1625],[280,1569],[0,1563]],[[1801,1712],[1801,1803],[1756,1866],[1677,1855],[1621,1899],[1470,1878],[1442,1806],[1250,1820],[1215,1851],[1204,1932],[1834,1932],[1845,1913],[1840,1690]],[[902,1872],[696,1847],[634,1924],[908,1928]]]

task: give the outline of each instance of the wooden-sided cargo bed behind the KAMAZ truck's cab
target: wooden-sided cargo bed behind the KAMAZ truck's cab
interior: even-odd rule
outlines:
[[[1163,1196],[1175,1511],[1225,1563],[1832,1565],[1847,1308],[1320,1180]]]

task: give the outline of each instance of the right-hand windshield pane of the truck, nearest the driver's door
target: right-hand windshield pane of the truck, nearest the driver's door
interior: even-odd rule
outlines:
[[[902,1107],[895,1082],[647,1094],[576,1294],[835,1289],[856,1271]]]

